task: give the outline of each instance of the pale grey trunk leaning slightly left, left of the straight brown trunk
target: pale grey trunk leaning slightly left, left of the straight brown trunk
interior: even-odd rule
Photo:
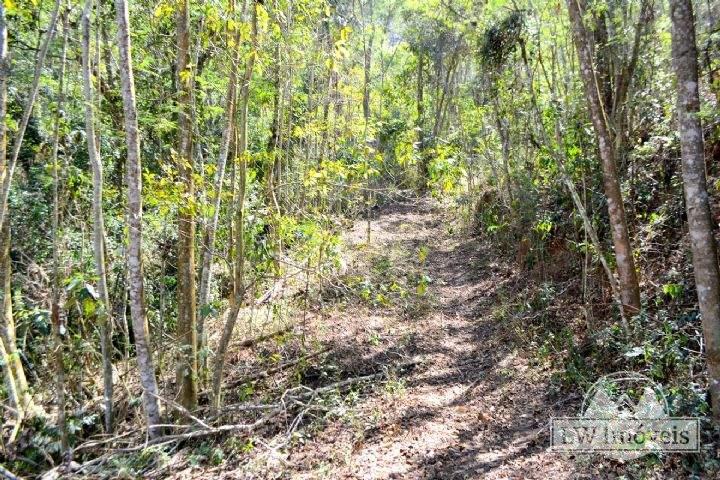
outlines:
[[[118,47],[120,51],[120,83],[122,87],[125,117],[125,142],[127,144],[128,183],[128,283],[130,316],[135,335],[135,350],[143,387],[143,405],[151,437],[161,432],[153,425],[160,424],[160,406],[157,401],[157,380],[150,354],[150,332],[145,318],[142,272],[142,168],[140,165],[140,138],[135,104],[135,80],[133,77],[132,51],[130,45],[130,22],[126,0],[115,0],[118,24]]]

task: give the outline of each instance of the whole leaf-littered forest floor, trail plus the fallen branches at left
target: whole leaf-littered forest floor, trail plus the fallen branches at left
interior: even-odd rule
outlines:
[[[339,269],[305,277],[296,266],[266,295],[269,304],[243,317],[226,369],[225,407],[217,415],[204,402],[197,415],[213,427],[253,424],[280,405],[277,415],[251,430],[144,450],[141,429],[130,430],[119,438],[132,449],[106,445],[95,460],[101,467],[83,473],[686,478],[680,457],[623,465],[549,450],[550,419],[578,414],[582,391],[563,361],[550,358],[563,352],[545,352],[536,333],[555,324],[581,328],[576,275],[562,274],[562,250],[550,252],[543,272],[553,275],[556,293],[544,294],[537,272],[516,252],[463,231],[449,211],[427,199],[377,209],[370,244],[366,220],[346,227]],[[535,305],[538,294],[548,298]],[[538,320],[541,314],[552,320]],[[562,350],[563,342],[551,348]]]

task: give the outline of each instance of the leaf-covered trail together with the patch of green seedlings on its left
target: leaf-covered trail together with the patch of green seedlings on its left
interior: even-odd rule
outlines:
[[[456,225],[433,202],[394,204],[375,213],[368,247],[358,221],[345,235],[344,274],[325,286],[326,313],[308,325],[309,337],[331,346],[318,368],[342,378],[414,366],[334,399],[281,448],[256,444],[237,466],[202,474],[577,478],[574,461],[547,447],[550,417],[574,413],[578,397],[557,393],[552,372],[504,322],[522,272]]]

